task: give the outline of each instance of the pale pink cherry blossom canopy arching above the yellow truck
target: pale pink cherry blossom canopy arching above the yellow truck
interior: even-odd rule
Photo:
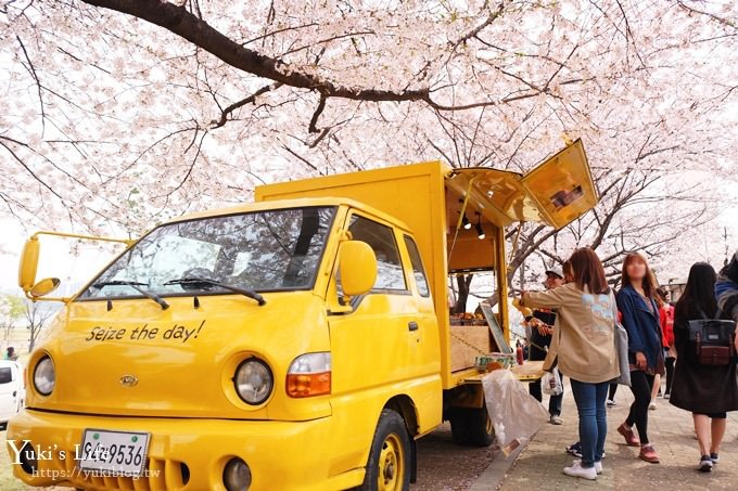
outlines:
[[[435,158],[524,171],[563,134],[602,204],[524,225],[511,273],[577,245],[612,269],[709,231],[735,179],[731,2],[0,0],[0,204],[35,225],[138,234],[259,182]]]

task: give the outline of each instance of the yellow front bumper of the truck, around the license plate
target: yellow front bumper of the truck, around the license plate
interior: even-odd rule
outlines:
[[[17,449],[24,440],[38,449],[35,473],[28,474],[20,464],[13,464],[15,477],[31,486],[225,491],[222,471],[233,456],[251,468],[250,491],[356,486],[364,478],[364,469],[329,477],[326,442],[330,441],[330,417],[294,423],[112,417],[26,410],[10,421],[8,439],[15,440]],[[81,471],[76,465],[75,445],[81,442],[85,428],[150,432],[145,473],[133,478]],[[10,443],[8,447],[13,461],[15,452]]]

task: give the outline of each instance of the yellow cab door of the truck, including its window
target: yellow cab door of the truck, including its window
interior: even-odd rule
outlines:
[[[366,465],[379,412],[386,401],[417,385],[423,371],[420,362],[423,320],[418,298],[400,255],[404,238],[392,227],[357,211],[349,212],[346,229],[353,240],[369,244],[377,256],[374,287],[352,298],[352,310],[329,315],[333,408],[332,439],[351,465]],[[341,292],[341,272],[331,280]],[[437,373],[437,367],[436,367]],[[399,392],[398,392],[399,391]],[[347,462],[346,465],[349,465]]]

